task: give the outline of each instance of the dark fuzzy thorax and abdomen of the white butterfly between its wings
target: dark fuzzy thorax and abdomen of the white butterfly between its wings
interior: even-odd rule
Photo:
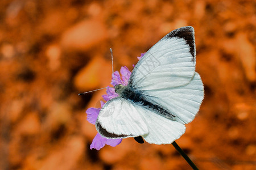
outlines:
[[[160,105],[151,103],[150,101],[147,101],[144,99],[142,92],[135,90],[131,86],[124,86],[122,92],[119,94],[120,97],[123,97],[127,100],[130,100],[134,103],[137,103],[139,105],[142,105],[143,107],[146,107],[147,109],[150,109],[152,112],[155,112],[157,114],[160,114],[163,117],[169,118],[171,120],[175,120],[174,114],[170,113]]]

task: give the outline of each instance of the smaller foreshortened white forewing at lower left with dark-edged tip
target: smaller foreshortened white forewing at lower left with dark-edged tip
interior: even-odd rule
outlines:
[[[148,134],[146,122],[141,117],[145,109],[121,97],[105,103],[95,123],[97,131],[107,138],[138,137]]]

